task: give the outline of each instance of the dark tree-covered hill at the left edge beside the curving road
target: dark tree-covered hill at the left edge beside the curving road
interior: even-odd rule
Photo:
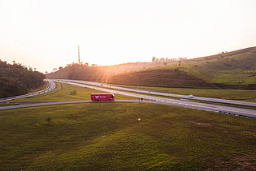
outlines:
[[[28,93],[29,89],[43,85],[44,78],[44,74],[32,68],[15,62],[11,65],[0,59],[0,98]]]

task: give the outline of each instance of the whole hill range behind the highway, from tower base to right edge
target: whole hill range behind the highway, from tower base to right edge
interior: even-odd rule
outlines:
[[[80,67],[80,66],[79,66]],[[89,67],[89,66],[88,66]],[[98,75],[65,67],[46,78],[69,78],[70,73],[86,81],[124,85],[186,88],[256,89],[256,47],[172,62],[137,62],[118,66],[97,66]],[[95,72],[94,72],[95,73]],[[82,77],[82,74],[85,76]]]

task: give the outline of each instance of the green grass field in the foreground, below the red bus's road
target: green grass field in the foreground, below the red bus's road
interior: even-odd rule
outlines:
[[[0,121],[1,170],[256,169],[256,120],[244,117],[93,102],[2,110]]]

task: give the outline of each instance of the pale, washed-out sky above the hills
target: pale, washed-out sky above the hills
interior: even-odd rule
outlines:
[[[0,59],[45,73],[256,46],[255,0],[1,0]]]

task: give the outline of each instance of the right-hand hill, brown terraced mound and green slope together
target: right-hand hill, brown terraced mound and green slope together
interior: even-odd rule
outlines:
[[[169,73],[166,70],[169,70]],[[175,70],[178,71],[176,74]],[[183,77],[183,75],[188,76]],[[179,62],[172,62],[166,66],[118,74],[113,76],[110,82],[124,82],[130,85],[140,82],[138,83],[140,85],[168,87],[213,88],[215,86],[221,89],[256,89],[255,78],[256,47],[251,47],[184,60],[181,66]]]

